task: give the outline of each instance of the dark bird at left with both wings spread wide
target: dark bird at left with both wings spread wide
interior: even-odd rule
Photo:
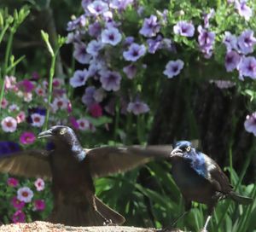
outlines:
[[[124,223],[125,217],[96,197],[93,177],[127,171],[155,157],[167,157],[172,149],[171,146],[85,149],[74,131],[63,125],[38,135],[38,138],[44,137],[54,142],[52,150],[26,150],[1,157],[0,171],[23,177],[51,178],[54,207],[49,221],[76,226]]]

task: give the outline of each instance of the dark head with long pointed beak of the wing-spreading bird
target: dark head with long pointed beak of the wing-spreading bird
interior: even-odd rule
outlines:
[[[52,126],[49,130],[41,132],[38,138],[49,138],[52,142],[62,142],[63,144],[77,141],[74,131],[65,125]]]

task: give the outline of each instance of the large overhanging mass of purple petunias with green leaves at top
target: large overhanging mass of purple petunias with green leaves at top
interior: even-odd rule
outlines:
[[[207,8],[189,1],[83,0],[83,13],[67,23],[67,43],[74,45],[73,57],[82,67],[70,84],[85,86],[81,101],[89,110],[100,106],[113,114],[119,103],[121,113],[147,113],[143,76],[182,78],[191,51],[194,59],[217,61],[233,83],[247,88],[245,83],[256,78],[253,4],[235,0]],[[148,61],[153,56],[166,62],[157,73]]]

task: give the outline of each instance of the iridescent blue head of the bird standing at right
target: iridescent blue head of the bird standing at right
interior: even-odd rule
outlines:
[[[193,154],[195,154],[195,148],[192,142],[178,141],[173,144],[171,158],[192,158]]]

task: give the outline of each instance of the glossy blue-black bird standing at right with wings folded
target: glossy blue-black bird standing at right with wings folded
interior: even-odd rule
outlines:
[[[218,164],[206,154],[195,149],[191,142],[176,142],[171,159],[172,176],[183,194],[186,212],[191,207],[191,200],[206,204],[208,207],[209,216],[203,231],[207,230],[207,224],[218,200],[230,198],[242,205],[253,202],[252,198],[234,192],[229,178]]]

